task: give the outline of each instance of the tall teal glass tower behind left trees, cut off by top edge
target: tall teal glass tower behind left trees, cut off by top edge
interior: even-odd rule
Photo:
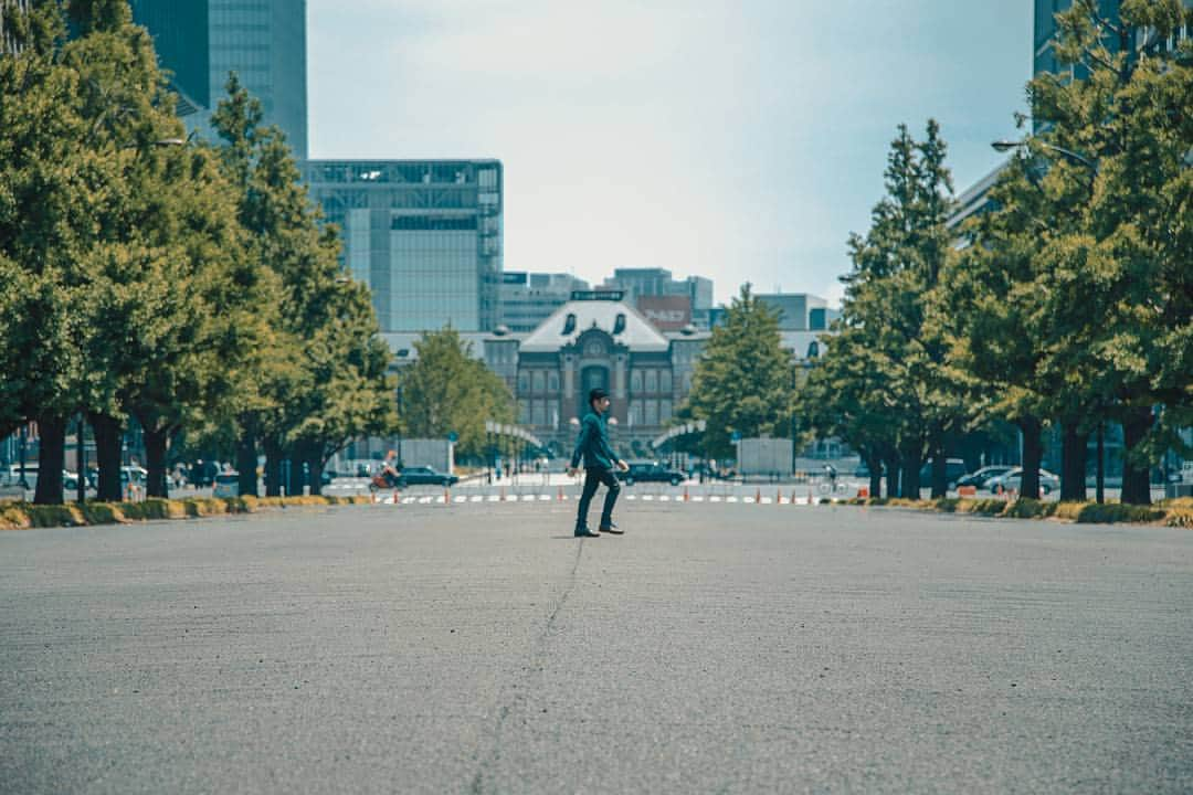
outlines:
[[[187,126],[210,133],[228,74],[261,103],[265,124],[307,157],[307,0],[131,0],[132,19],[173,73]]]

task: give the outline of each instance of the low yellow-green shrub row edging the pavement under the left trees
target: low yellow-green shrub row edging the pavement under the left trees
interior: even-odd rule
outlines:
[[[369,503],[365,497],[190,497],[187,499],[149,498],[142,502],[64,505],[35,505],[32,503],[0,503],[0,529],[30,527],[78,527],[89,524],[119,524],[161,518],[191,518],[227,514],[254,514],[259,510],[295,508],[301,505],[348,505]]]

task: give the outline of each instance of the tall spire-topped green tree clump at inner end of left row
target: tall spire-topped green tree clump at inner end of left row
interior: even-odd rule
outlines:
[[[298,168],[280,131],[260,126],[260,104],[235,75],[212,124],[224,141],[224,173],[237,186],[237,218],[248,256],[273,275],[271,331],[259,369],[245,380],[237,405],[237,464],[242,493],[256,490],[256,451],[266,455],[270,493],[280,491],[290,459],[290,491],[313,493],[327,459],[358,435],[394,427],[389,352],[378,337],[367,294],[338,262],[334,226],[320,229]]]

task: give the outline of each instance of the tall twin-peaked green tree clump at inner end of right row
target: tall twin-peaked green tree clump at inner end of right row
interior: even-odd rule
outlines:
[[[866,235],[849,238],[853,269],[843,278],[842,306],[842,327],[849,333],[829,344],[822,362],[830,371],[823,377],[828,383],[848,378],[858,371],[857,362],[869,362],[865,372],[880,392],[867,402],[880,399],[882,406],[873,408],[889,422],[883,422],[879,437],[866,440],[860,434],[871,423],[855,424],[853,442],[897,456],[889,471],[901,470],[901,493],[913,498],[920,496],[926,455],[933,460],[933,495],[944,495],[945,441],[968,421],[948,371],[946,339],[935,321],[937,313],[947,311],[941,305],[947,296],[940,290],[951,247],[946,221],[952,180],[945,153],[934,120],[928,120],[919,142],[900,125],[888,157],[886,195],[874,206]],[[821,378],[814,386],[824,385]],[[848,400],[852,395],[824,397]]]

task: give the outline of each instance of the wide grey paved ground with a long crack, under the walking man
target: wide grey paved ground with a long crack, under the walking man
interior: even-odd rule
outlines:
[[[0,791],[1193,790],[1189,530],[574,508],[2,533]]]

